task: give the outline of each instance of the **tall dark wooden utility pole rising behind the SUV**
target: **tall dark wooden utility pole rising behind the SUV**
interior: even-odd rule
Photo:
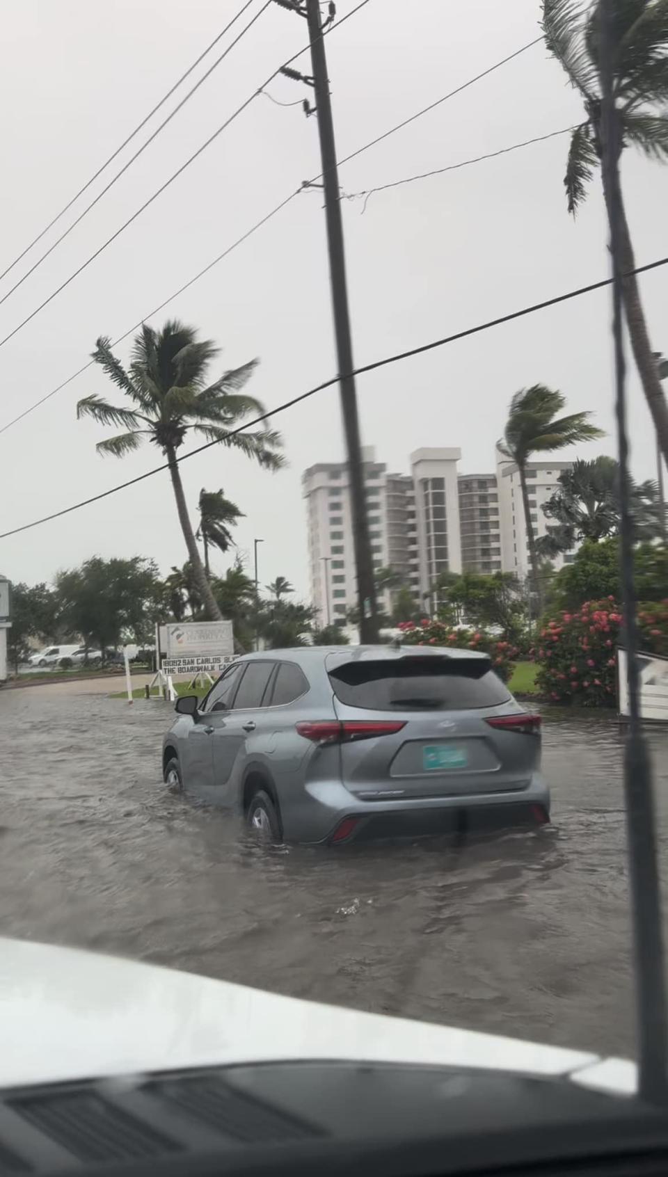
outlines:
[[[302,11],[298,6],[293,7],[296,7],[297,11]],[[325,44],[323,40],[319,0],[305,0],[305,12],[306,20],[309,22],[309,38],[311,41],[311,68],[313,71],[312,81],[316,97],[316,114],[318,119],[320,160],[323,167],[325,220],[328,227],[328,250],[330,255],[330,282],[339,375],[340,408],[343,415],[343,430],[345,434],[355,565],[357,571],[359,640],[365,644],[378,640],[378,614],[376,607],[376,586],[373,583],[373,560],[371,558],[369,523],[366,519],[366,500],[364,498],[364,471],[362,467],[362,444],[359,438],[357,394],[355,391],[355,377],[351,375],[353,370],[352,341],[350,337],[348,285],[345,280],[340,191],[338,186],[332,107],[330,101],[328,62],[325,58]]]

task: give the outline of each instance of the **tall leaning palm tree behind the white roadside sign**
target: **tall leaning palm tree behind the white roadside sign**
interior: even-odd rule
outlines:
[[[167,459],[177,510],[193,576],[206,614],[220,619],[189,518],[177,459],[189,431],[210,441],[240,450],[265,470],[279,470],[280,434],[269,428],[231,433],[249,414],[264,412],[259,400],[240,390],[257,360],[224,372],[207,384],[206,372],[218,348],[210,339],[198,339],[197,331],[178,320],[165,322],[160,332],[144,326],[134,338],[130,367],[124,368],[101,335],[93,352],[95,364],[130,398],[135,407],[110,405],[101,397],[85,397],[77,405],[77,417],[92,417],[101,425],[119,425],[126,432],[98,443],[98,453],[123,458],[139,448],[144,438],[157,445]]]

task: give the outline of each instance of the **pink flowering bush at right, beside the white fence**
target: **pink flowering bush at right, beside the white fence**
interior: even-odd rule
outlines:
[[[640,605],[637,619],[640,649],[668,654],[668,600]],[[622,644],[622,611],[613,597],[563,611],[540,631],[534,649],[538,689],[554,703],[615,706],[615,649]]]

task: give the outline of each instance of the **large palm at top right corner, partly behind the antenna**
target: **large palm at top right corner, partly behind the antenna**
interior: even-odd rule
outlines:
[[[668,0],[606,0],[611,8],[613,95],[619,112],[620,151],[637,147],[648,159],[668,160]],[[582,7],[574,0],[543,0],[543,32],[548,51],[580,92],[587,118],[575,127],[564,177],[568,210],[576,212],[587,184],[606,151],[601,126],[598,58],[600,0]],[[601,168],[603,195],[606,168]],[[620,195],[623,301],[631,348],[652,413],[656,437],[668,461],[668,407],[640,300],[635,258]]]

